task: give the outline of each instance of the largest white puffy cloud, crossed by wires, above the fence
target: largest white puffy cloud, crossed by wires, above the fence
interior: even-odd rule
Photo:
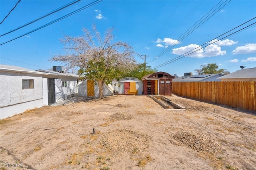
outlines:
[[[190,44],[188,46],[172,49],[171,53],[177,54],[177,55],[182,55],[182,54],[186,53],[185,55],[188,55],[189,53],[192,53],[193,51],[195,51],[194,53],[189,54],[188,57],[196,57],[196,58],[212,57],[212,56],[226,54],[226,51],[221,51],[221,48],[218,47],[218,45],[216,45],[216,44],[208,45],[204,49],[200,49],[200,48],[201,48],[200,45]],[[188,52],[188,51],[190,51],[190,52]]]

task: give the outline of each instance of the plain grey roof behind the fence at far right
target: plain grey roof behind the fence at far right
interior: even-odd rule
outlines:
[[[256,78],[256,68],[240,69],[233,73],[219,77],[218,79],[243,79],[243,78]]]

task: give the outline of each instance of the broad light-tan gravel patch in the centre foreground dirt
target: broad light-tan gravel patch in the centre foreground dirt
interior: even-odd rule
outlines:
[[[113,129],[100,135],[100,143],[110,150],[113,157],[137,150],[144,151],[150,148],[152,141],[146,133],[129,129]]]

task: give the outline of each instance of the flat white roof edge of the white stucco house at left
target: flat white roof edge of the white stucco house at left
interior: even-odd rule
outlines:
[[[4,64],[0,64],[0,71],[46,75],[46,73],[42,73],[39,71],[34,71],[34,70],[26,69],[23,67],[18,67],[14,65],[4,65]]]

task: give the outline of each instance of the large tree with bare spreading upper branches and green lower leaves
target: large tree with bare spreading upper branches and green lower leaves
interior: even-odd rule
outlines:
[[[92,25],[92,31],[84,29],[80,37],[65,36],[65,54],[55,55],[52,61],[65,63],[68,68],[79,68],[81,79],[94,80],[99,86],[100,98],[104,97],[103,84],[110,84],[120,74],[129,73],[136,68],[133,48],[125,42],[113,42],[114,28],[104,33],[104,38]],[[140,56],[140,55],[138,55]]]

